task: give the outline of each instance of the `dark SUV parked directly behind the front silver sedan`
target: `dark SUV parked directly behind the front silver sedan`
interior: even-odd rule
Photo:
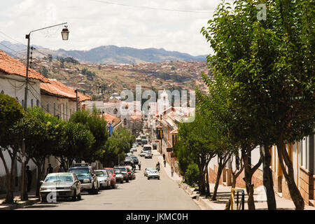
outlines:
[[[70,167],[68,172],[76,174],[81,183],[82,191],[95,195],[99,193],[97,176],[90,165],[76,164]]]

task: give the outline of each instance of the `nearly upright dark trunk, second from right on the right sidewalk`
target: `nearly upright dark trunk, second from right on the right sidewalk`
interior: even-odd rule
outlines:
[[[266,189],[268,210],[276,210],[276,197],[274,196],[274,181],[272,180],[272,170],[270,169],[271,155],[269,153],[269,143],[265,142],[260,147],[262,156],[263,184]]]

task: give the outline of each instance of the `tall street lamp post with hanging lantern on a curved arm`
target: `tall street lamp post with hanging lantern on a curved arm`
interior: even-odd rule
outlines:
[[[35,31],[39,31],[39,30],[43,30],[43,29],[48,29],[51,27],[57,27],[60,25],[65,25],[64,29],[62,29],[62,40],[67,41],[69,38],[69,30],[66,27],[67,22],[64,23],[60,23],[57,25],[52,25],[50,27],[44,27],[41,29],[35,29],[33,31],[30,31],[29,34],[25,35],[25,38],[27,38],[27,67],[26,67],[26,76],[25,76],[25,98],[24,98],[24,109],[25,111],[27,111],[27,94],[28,94],[28,85],[29,85],[29,45],[31,42],[31,33],[35,32]],[[22,147],[22,181],[21,181],[21,200],[27,200],[28,196],[27,196],[27,191],[26,186],[25,186],[25,141],[23,140],[23,147]]]

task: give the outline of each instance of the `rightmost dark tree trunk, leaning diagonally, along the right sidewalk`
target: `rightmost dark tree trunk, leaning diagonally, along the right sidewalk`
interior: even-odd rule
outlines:
[[[286,151],[286,145],[283,143],[283,141],[279,141],[279,143],[276,144],[276,148],[278,150],[280,167],[283,171],[284,177],[286,178],[286,182],[288,183],[288,189],[290,191],[290,196],[295,205],[295,209],[303,210],[304,200],[301,196],[300,190],[297,188],[294,181],[293,165],[292,165],[292,161],[290,160],[288,156],[288,152]],[[286,166],[288,167],[288,172],[286,172],[286,167],[283,164],[283,160],[284,162],[286,162]]]

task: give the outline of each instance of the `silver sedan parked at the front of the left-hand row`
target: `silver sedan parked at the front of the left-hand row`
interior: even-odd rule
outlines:
[[[51,173],[41,181],[39,195],[41,202],[47,201],[48,194],[55,192],[58,198],[71,197],[73,201],[81,200],[81,183],[73,173]]]

